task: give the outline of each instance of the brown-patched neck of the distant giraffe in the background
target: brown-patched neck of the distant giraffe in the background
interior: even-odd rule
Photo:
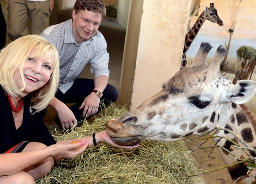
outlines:
[[[184,44],[184,48],[183,48],[183,56],[186,55],[186,52],[187,52],[189,46],[191,45],[192,41],[197,36],[197,33],[200,30],[200,28],[203,25],[203,22],[205,20],[206,20],[205,12],[203,11],[203,13],[198,17],[194,26],[186,34],[185,44]]]

